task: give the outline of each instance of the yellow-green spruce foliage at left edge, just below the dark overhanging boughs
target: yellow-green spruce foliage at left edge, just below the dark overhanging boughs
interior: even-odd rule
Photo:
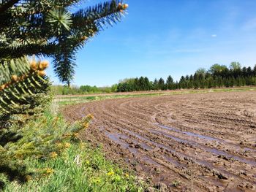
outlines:
[[[1,61],[0,127],[41,112],[50,100],[49,81],[43,70],[32,69],[26,57]]]

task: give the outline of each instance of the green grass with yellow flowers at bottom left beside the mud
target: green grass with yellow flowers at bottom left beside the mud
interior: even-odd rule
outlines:
[[[143,191],[135,177],[106,161],[100,149],[71,145],[48,161],[28,158],[28,166],[44,172],[28,183],[8,183],[4,191]]]

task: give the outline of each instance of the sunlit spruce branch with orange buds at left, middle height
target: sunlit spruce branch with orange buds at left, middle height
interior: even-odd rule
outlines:
[[[29,63],[27,58],[3,61],[0,65],[0,120],[7,114],[22,114],[34,110],[31,96],[46,93],[48,80],[44,70],[47,61]]]

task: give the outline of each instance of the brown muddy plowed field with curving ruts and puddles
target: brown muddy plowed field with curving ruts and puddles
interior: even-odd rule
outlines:
[[[162,191],[256,191],[256,91],[110,99],[80,135]]]

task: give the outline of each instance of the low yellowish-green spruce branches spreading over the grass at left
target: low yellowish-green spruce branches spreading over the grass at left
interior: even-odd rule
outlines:
[[[69,127],[61,120],[61,117],[50,115],[38,115],[36,120],[29,120],[20,128],[14,124],[9,128],[1,128],[0,131],[0,175],[3,181],[17,180],[25,182],[29,176],[37,174],[35,170],[27,169],[28,158],[38,161],[46,161],[62,153],[69,142],[78,141],[78,131],[89,126],[91,116],[87,116]]]

